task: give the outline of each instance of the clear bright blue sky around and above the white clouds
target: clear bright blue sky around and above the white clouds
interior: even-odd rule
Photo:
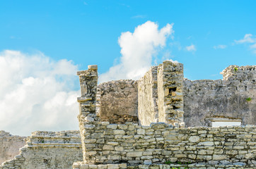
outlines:
[[[173,60],[185,65],[192,79],[218,79],[228,65],[253,65],[256,55],[246,45],[234,45],[245,34],[256,35],[255,1],[1,1],[0,50],[42,51],[55,60],[66,58],[99,72],[120,57],[121,32],[133,32],[147,20],[163,27],[174,23],[168,42]],[[213,46],[226,45],[226,49]],[[160,61],[159,61],[160,63]],[[216,75],[217,74],[217,75]]]

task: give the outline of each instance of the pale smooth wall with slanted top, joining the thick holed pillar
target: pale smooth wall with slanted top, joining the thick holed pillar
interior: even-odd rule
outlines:
[[[138,118],[140,125],[158,122],[157,66],[138,81]]]

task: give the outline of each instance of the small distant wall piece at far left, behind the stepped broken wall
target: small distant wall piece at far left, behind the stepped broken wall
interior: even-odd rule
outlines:
[[[0,164],[19,154],[19,149],[25,145],[24,139],[25,137],[0,131]]]

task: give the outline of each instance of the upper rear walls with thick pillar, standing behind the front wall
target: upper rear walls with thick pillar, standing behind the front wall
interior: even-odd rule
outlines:
[[[136,123],[138,116],[141,125],[158,121],[184,125],[184,120],[187,127],[210,127],[214,119],[256,125],[255,65],[231,65],[222,74],[223,80],[181,82],[182,64],[164,61],[138,82],[117,80],[99,84],[97,115],[110,123]]]

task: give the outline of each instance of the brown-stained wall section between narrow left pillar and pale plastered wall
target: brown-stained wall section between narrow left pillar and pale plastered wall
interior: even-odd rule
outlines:
[[[137,81],[115,80],[98,85],[97,113],[110,123],[138,122]]]

